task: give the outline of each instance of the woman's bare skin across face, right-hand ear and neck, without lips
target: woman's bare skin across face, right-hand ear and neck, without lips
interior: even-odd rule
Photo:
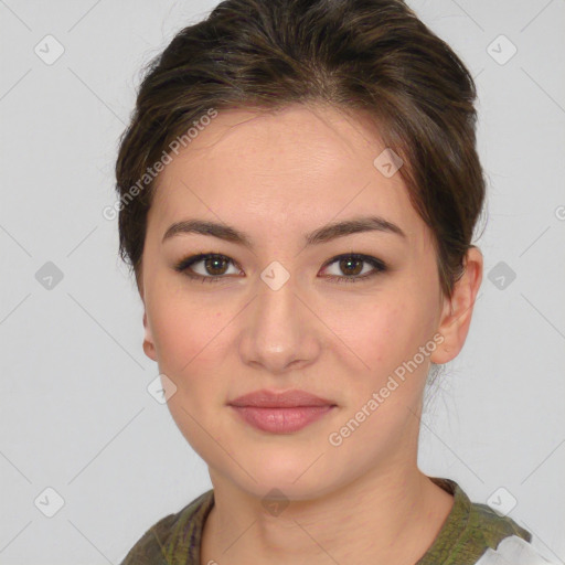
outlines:
[[[451,510],[452,497],[417,467],[419,416],[430,362],[447,363],[463,347],[482,256],[468,252],[465,275],[444,297],[431,232],[401,174],[386,178],[373,164],[383,149],[367,120],[330,106],[226,110],[158,178],[140,277],[143,350],[177,386],[169,409],[210,469],[215,505],[202,564],[414,564]],[[305,247],[305,234],[367,213],[406,237],[371,231]],[[202,234],[162,242],[186,218],[234,226],[254,247]],[[174,270],[199,253],[232,259],[220,265],[222,280]],[[388,270],[329,279],[374,269],[328,265],[348,253]],[[290,276],[278,290],[260,278],[274,260]],[[217,273],[203,262],[192,269]],[[443,343],[331,445],[329,435],[438,332]],[[226,405],[259,388],[305,390],[337,407],[299,431],[268,434]],[[273,488],[289,501],[277,515],[262,503]]]

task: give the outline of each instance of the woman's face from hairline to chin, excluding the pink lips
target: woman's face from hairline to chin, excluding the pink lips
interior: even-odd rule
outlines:
[[[430,232],[401,175],[374,164],[384,149],[330,107],[220,111],[158,179],[143,348],[174,383],[169,408],[211,475],[257,497],[312,498],[416,465],[445,301]],[[388,224],[326,231],[370,217]],[[163,238],[194,220],[231,226],[248,246],[221,233]],[[206,253],[225,258],[175,270]],[[334,406],[301,429],[265,431],[230,405],[258,390]]]

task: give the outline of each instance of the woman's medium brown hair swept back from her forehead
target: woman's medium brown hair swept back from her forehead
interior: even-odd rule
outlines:
[[[116,162],[120,256],[139,288],[148,167],[211,108],[322,102],[369,117],[403,159],[450,297],[484,200],[475,99],[463,63],[401,0],[225,0],[147,65]]]

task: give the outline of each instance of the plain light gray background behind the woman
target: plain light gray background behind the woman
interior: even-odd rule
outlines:
[[[215,4],[0,0],[1,564],[116,564],[211,487],[146,390],[158,370],[102,210],[141,65]],[[478,502],[513,497],[510,516],[563,563],[565,1],[411,6],[477,77],[489,178],[486,276],[423,419],[420,468]],[[50,65],[34,52],[47,34],[65,50]],[[504,64],[500,34],[518,49]],[[51,288],[47,262],[63,276]],[[64,500],[53,518],[46,488]]]

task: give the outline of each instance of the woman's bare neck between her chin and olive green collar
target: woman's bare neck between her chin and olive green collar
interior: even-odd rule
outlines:
[[[433,544],[452,497],[417,466],[370,472],[323,498],[291,501],[278,515],[211,471],[215,504],[201,563],[413,565]]]

